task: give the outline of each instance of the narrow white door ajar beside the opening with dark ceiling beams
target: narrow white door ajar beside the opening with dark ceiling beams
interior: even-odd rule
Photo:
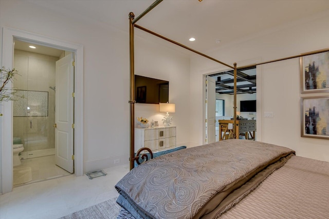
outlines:
[[[215,142],[216,124],[216,82],[214,78],[206,77],[206,143]]]

